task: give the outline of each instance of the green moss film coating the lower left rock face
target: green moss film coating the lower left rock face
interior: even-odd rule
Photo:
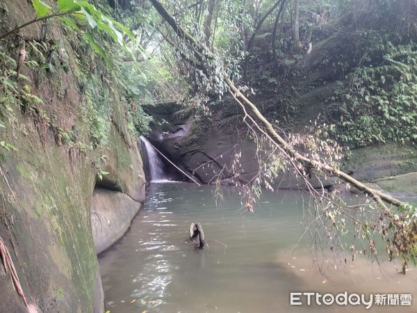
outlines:
[[[62,300],[71,303],[76,298],[79,310],[88,308],[92,304],[97,273],[90,229],[94,179],[90,163],[88,159],[78,159],[73,166],[66,150],[54,144],[44,149],[38,133],[29,134],[15,133],[19,152],[14,159],[5,158],[6,162],[2,163],[10,169],[17,199],[17,203],[9,199],[6,214],[25,222],[24,225],[15,223],[13,232],[17,241],[35,255],[35,259],[21,256],[27,263],[25,271],[34,276],[29,280],[38,281],[35,278],[38,272],[31,268],[47,264],[45,271],[54,277],[51,287],[58,282],[65,283],[65,292],[60,293]],[[1,190],[5,188],[1,184]]]

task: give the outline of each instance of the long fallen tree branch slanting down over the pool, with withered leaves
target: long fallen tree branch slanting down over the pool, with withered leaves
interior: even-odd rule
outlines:
[[[160,1],[149,1],[151,1],[156,10],[158,10],[161,17],[166,19],[168,24],[170,24],[174,33],[176,33],[179,38],[182,38],[186,45],[189,45],[193,49],[191,53],[198,56],[204,56],[204,58],[198,60],[199,66],[206,67],[208,72],[210,72],[213,63],[220,63],[218,67],[214,68],[215,71],[211,72],[211,75],[218,75],[215,76],[215,79],[224,83],[222,86],[219,85],[219,93],[222,94],[224,92],[223,88],[229,89],[229,92],[245,113],[243,121],[254,132],[254,136],[256,138],[258,137],[255,132],[256,130],[261,136],[264,136],[264,138],[268,140],[270,145],[269,149],[272,153],[275,151],[274,147],[276,148],[279,157],[285,165],[281,167],[281,170],[288,170],[286,166],[290,166],[293,169],[295,176],[297,178],[301,177],[306,184],[307,190],[313,198],[314,207],[314,210],[309,210],[309,214],[307,214],[306,218],[313,218],[313,223],[318,224],[315,228],[315,234],[313,234],[311,228],[308,227],[312,246],[318,247],[321,250],[322,255],[325,256],[325,250],[327,249],[324,247],[324,242],[327,241],[329,250],[332,250],[334,255],[340,257],[341,255],[338,254],[339,252],[338,249],[335,249],[335,245],[342,250],[347,249],[341,241],[341,236],[345,235],[343,231],[345,230],[345,218],[343,217],[347,217],[354,223],[355,231],[353,240],[356,241],[358,239],[362,246],[359,250],[355,248],[354,244],[350,246],[349,250],[352,253],[352,260],[356,253],[363,252],[363,254],[366,254],[368,250],[376,259],[377,246],[375,236],[380,234],[384,241],[386,241],[386,252],[389,255],[389,260],[391,261],[395,256],[400,256],[402,258],[403,273],[405,273],[405,266],[407,266],[408,262],[411,261],[417,263],[417,213],[414,207],[394,198],[388,193],[376,190],[367,184],[359,182],[357,179],[354,179],[354,177],[340,170],[337,164],[332,165],[332,157],[340,157],[337,154],[335,155],[336,150],[327,150],[328,152],[325,150],[325,153],[330,154],[330,159],[320,155],[320,149],[318,149],[318,147],[313,148],[312,154],[297,150],[295,147],[304,144],[304,142],[301,141],[300,138],[297,139],[297,136],[294,135],[280,136],[277,130],[275,130],[273,125],[268,122],[256,106],[234,85],[227,67],[224,67],[224,64],[216,59],[215,55],[205,47],[202,42],[196,40],[177,24],[174,17],[167,12]],[[218,74],[219,72],[220,74]],[[248,121],[250,121],[250,123]],[[313,137],[311,138],[314,140]],[[308,141],[306,141],[306,143],[308,143]],[[321,141],[321,143],[324,144],[323,141]],[[263,163],[263,166],[268,166],[268,164]],[[333,201],[332,196],[325,195],[324,186],[321,182],[321,193],[313,188],[313,185],[309,182],[312,170],[318,172],[318,175],[314,173],[317,178],[319,175],[324,177],[338,177],[343,182],[347,183],[347,188],[353,186],[370,197],[366,198],[366,204],[360,209],[354,209],[352,212],[347,211],[346,209],[348,209],[348,207],[343,202],[343,199],[340,199],[340,202],[335,202]],[[260,175],[258,175],[257,179],[257,186],[256,182],[253,184],[255,191],[253,191],[250,186],[243,186],[243,193],[246,198],[246,208],[249,211],[252,210],[254,193],[255,196],[259,196],[256,195],[256,188],[260,187]],[[372,211],[375,210],[375,212],[373,212],[375,214],[373,214],[371,220],[368,220],[368,216],[366,215],[367,210],[364,209],[366,206]],[[391,207],[397,207],[398,209],[395,210]],[[338,216],[338,214],[341,215]],[[338,217],[340,218],[336,220]],[[325,259],[327,262],[327,257],[325,257]]]

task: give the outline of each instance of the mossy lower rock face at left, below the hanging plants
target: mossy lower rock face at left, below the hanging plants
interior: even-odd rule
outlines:
[[[0,236],[26,298],[44,312],[92,312],[98,264],[89,204],[95,174],[88,159],[58,147],[50,131],[42,144],[30,119],[18,121],[26,134],[16,128],[6,137],[18,150],[1,163]],[[11,293],[1,288],[0,298]],[[12,303],[19,307],[22,299]],[[0,311],[13,312],[3,305],[10,303],[2,301]]]

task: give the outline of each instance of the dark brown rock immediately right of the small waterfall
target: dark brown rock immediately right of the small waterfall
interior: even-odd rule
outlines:
[[[241,181],[253,177],[257,170],[256,148],[247,138],[247,129],[239,119],[240,115],[227,116],[219,110],[211,120],[213,125],[207,125],[196,122],[193,114],[185,114],[183,110],[170,111],[171,107],[167,106],[163,115],[154,115],[156,120],[169,123],[154,125],[149,140],[177,166],[202,184],[214,184],[215,177],[222,172],[222,183],[229,184],[233,175],[229,169],[233,166],[235,154],[240,153]]]

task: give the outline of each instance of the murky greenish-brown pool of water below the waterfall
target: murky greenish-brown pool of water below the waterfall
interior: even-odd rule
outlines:
[[[327,269],[300,240],[298,193],[264,193],[246,212],[234,189],[220,206],[210,186],[152,184],[131,230],[99,258],[106,310],[115,312],[417,312],[417,269],[377,266],[366,258]],[[208,247],[195,249],[190,223],[202,223]],[[226,245],[227,247],[223,246]],[[295,248],[295,246],[297,247]],[[326,262],[321,265],[326,265]],[[324,266],[328,267],[328,266]],[[290,305],[291,291],[405,293],[412,307]]]

